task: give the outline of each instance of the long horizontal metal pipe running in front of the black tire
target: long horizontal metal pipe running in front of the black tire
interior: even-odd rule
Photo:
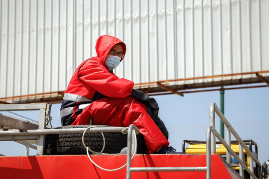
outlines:
[[[26,135],[46,135],[46,134],[70,134],[83,133],[87,128],[73,128],[73,129],[33,129],[26,131],[1,131],[1,136],[26,136]],[[87,133],[94,132],[122,132],[125,127],[94,127],[87,131]],[[135,133],[139,133],[137,127],[134,127]]]

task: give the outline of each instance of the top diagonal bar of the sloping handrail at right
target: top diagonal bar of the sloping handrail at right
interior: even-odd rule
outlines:
[[[235,131],[235,129],[231,126],[231,124],[228,122],[228,120],[225,118],[225,116],[222,114],[222,112],[220,111],[220,109],[218,108],[217,105],[215,105],[215,111],[216,114],[220,117],[220,119],[222,120],[222,122],[227,126],[230,127],[232,134],[235,136],[235,138],[238,140],[239,144],[242,144],[244,149],[247,151],[247,153],[249,154],[250,157],[252,157],[254,159],[254,161],[256,162],[256,164],[258,166],[261,166],[260,162],[258,161],[258,159],[256,159],[256,157],[253,155],[253,153],[250,151],[249,147],[245,144],[245,142],[241,139],[241,137],[237,134],[237,132]]]

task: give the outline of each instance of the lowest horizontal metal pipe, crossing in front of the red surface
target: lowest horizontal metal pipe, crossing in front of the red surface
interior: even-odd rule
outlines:
[[[207,167],[134,167],[131,172],[206,172]]]

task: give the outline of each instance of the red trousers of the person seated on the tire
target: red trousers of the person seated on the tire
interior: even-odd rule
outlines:
[[[143,135],[149,153],[169,142],[146,112],[146,107],[134,97],[102,98],[94,101],[79,114],[72,125],[89,124],[89,118],[99,125],[128,127],[134,124]]]

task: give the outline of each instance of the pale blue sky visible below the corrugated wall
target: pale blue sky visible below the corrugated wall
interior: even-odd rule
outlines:
[[[169,131],[169,142],[173,148],[182,151],[184,139],[206,140],[209,107],[211,102],[216,102],[220,107],[219,91],[185,93],[184,97],[176,94],[153,97],[159,104],[159,116]],[[261,164],[269,160],[269,88],[226,90],[224,100],[224,114],[236,132],[243,140],[257,142]],[[53,104],[53,127],[61,126],[59,108],[60,104]],[[38,112],[17,113],[38,120]],[[219,126],[219,118],[216,117],[218,131]],[[0,154],[24,155],[24,146],[15,142],[0,142]],[[30,150],[30,155],[36,155],[36,151]]]

